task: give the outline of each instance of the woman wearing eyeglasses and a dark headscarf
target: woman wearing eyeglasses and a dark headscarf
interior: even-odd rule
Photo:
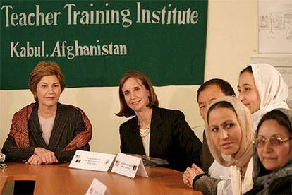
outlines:
[[[247,194],[292,194],[292,111],[272,110],[257,127],[255,185]]]

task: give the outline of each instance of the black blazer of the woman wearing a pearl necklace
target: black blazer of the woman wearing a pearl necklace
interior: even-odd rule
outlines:
[[[145,155],[137,116],[121,124],[120,136],[122,153]],[[200,166],[202,143],[181,111],[153,108],[149,147],[150,157],[166,159],[174,170],[184,171],[192,163]]]

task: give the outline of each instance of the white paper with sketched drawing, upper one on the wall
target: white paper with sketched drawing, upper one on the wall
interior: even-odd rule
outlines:
[[[259,53],[292,53],[292,1],[259,0]]]

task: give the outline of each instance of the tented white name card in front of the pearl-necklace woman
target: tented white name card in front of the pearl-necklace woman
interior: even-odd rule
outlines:
[[[116,172],[117,174],[132,178],[134,178],[135,175],[148,177],[141,158],[123,153],[118,153],[116,156],[116,161],[114,162],[111,172]]]

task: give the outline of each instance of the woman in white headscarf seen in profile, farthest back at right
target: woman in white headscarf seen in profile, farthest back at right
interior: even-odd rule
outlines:
[[[279,71],[269,64],[250,64],[243,69],[238,92],[238,99],[252,113],[255,129],[267,112],[276,108],[288,109],[288,85]]]

